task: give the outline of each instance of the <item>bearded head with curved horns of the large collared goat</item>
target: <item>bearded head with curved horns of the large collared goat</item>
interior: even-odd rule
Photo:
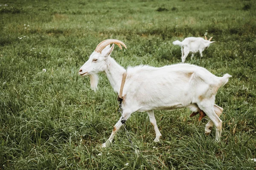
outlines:
[[[110,44],[113,44],[110,47]],[[106,60],[110,56],[111,52],[114,49],[114,44],[118,45],[122,49],[123,45],[126,48],[126,45],[119,40],[104,40],[100,42],[93,53],[90,55],[87,62],[81,66],[79,69],[80,76],[89,76],[90,84],[92,90],[96,91],[98,85],[98,76],[97,73],[105,71],[107,69]]]

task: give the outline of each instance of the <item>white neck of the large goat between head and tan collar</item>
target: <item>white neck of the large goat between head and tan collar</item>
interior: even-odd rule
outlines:
[[[111,57],[108,57],[106,62],[107,69],[105,70],[105,74],[108,77],[108,80],[114,91],[119,93],[122,82],[122,75],[126,70]]]

